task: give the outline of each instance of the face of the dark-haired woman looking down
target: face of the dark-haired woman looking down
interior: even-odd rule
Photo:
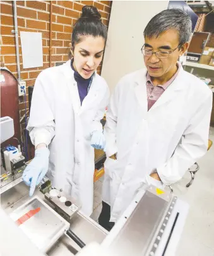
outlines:
[[[74,69],[85,79],[90,78],[102,61],[105,40],[92,35],[82,36],[83,39],[74,46]]]

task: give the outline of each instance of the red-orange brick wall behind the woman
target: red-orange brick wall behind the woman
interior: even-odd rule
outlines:
[[[83,6],[93,5],[98,8],[105,25],[109,24],[111,1],[52,1],[52,66],[56,62],[68,60],[69,43],[73,25],[81,15]],[[21,79],[27,87],[34,85],[35,79],[45,68],[49,68],[49,29],[50,1],[16,1],[18,13],[18,35],[20,44]],[[17,76],[15,35],[12,1],[1,1],[1,61]],[[24,69],[21,57],[20,31],[42,32],[43,67]],[[33,49],[32,49],[33,51]],[[98,73],[101,71],[98,67]],[[28,90],[27,90],[28,95]],[[28,106],[28,102],[27,102]],[[24,114],[23,97],[20,97],[20,116]]]

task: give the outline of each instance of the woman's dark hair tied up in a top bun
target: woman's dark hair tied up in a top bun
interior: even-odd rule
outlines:
[[[81,17],[73,27],[71,46],[81,41],[82,35],[107,39],[107,27],[101,21],[101,15],[95,6],[83,6]]]

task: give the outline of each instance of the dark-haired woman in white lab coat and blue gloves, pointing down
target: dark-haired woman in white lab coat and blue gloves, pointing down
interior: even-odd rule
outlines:
[[[40,73],[33,90],[27,130],[35,157],[23,173],[30,196],[45,174],[52,186],[76,198],[82,212],[93,210],[94,149],[104,149],[100,119],[109,88],[96,69],[102,61],[107,28],[97,8],[84,6],[73,28],[73,58]]]

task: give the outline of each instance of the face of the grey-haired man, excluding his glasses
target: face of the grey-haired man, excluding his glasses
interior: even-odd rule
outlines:
[[[176,30],[170,29],[160,34],[157,38],[152,37],[150,39],[146,37],[144,48],[153,52],[170,52],[177,46],[179,46],[179,34]],[[144,56],[145,65],[150,76],[164,77],[170,70],[174,70],[177,59],[183,51],[186,51],[186,49],[184,50],[183,47],[181,49],[177,48],[165,59],[157,58],[156,54],[152,54],[151,57]]]

